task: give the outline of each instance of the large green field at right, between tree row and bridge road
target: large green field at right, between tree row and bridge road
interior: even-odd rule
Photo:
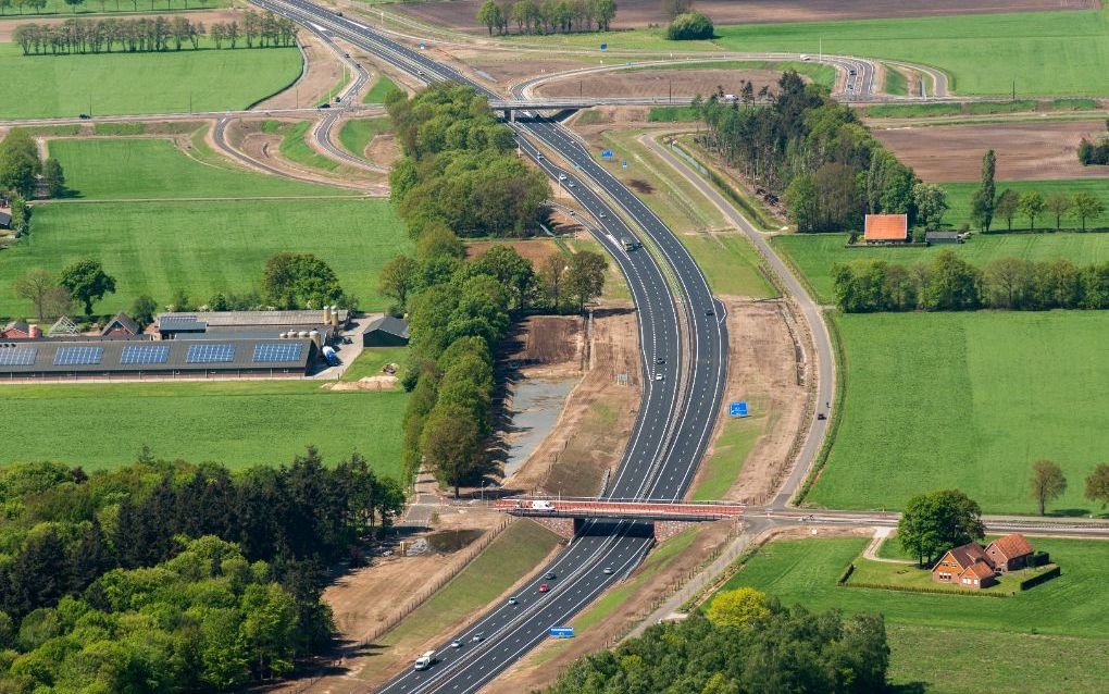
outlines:
[[[958,489],[990,513],[1035,513],[1038,459],[1069,485],[1049,512],[1096,509],[1083,480],[1106,461],[1105,311],[836,315],[846,391],[810,493],[833,509],[899,509]]]

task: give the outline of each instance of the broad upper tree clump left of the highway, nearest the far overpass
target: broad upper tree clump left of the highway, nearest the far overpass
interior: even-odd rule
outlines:
[[[404,157],[389,172],[393,199],[419,238],[431,223],[460,237],[522,237],[546,218],[550,184],[516,154],[512,131],[470,87],[441,82],[386,99]]]

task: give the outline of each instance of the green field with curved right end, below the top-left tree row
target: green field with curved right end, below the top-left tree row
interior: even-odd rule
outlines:
[[[292,84],[301,63],[295,48],[23,56],[0,43],[0,118],[184,113],[190,99],[193,111],[245,109]]]

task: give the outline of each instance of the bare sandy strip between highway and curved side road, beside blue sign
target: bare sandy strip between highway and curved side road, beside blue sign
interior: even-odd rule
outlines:
[[[790,470],[804,421],[806,384],[812,381],[803,358],[806,336],[786,300],[723,301],[729,345],[724,398],[729,402],[746,400],[762,421],[762,433],[725,499],[764,500]],[[721,422],[728,419],[726,412],[721,414]],[[718,426],[718,435],[720,431]],[[706,459],[716,452],[716,443],[711,444]],[[706,472],[702,465],[694,486]]]

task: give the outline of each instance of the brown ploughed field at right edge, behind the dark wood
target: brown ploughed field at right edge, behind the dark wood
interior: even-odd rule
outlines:
[[[874,135],[929,182],[977,181],[987,149],[1004,181],[1109,177],[1109,168],[1078,163],[1085,135],[1105,133],[1103,120],[930,125],[874,130]]]

